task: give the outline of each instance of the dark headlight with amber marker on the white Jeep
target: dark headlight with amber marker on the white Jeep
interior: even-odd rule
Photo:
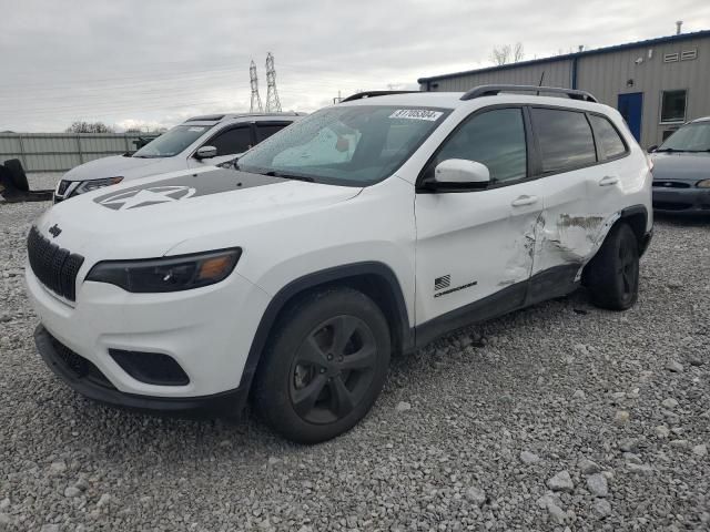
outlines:
[[[235,247],[176,257],[105,260],[91,268],[87,280],[141,294],[190,290],[224,280],[241,255],[242,249]]]

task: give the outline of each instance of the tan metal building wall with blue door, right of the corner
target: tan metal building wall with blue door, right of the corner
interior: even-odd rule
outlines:
[[[697,50],[697,59],[663,62],[666,54],[686,50]],[[710,115],[710,39],[581,57],[577,84],[615,109],[619,94],[643,93],[641,145],[660,144],[663,131],[678,125],[660,123],[663,91],[688,91],[687,120]]]

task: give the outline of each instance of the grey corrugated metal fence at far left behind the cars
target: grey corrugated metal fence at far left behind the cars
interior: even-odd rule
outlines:
[[[136,133],[0,133],[0,163],[19,158],[27,172],[67,172],[94,158],[134,151]]]

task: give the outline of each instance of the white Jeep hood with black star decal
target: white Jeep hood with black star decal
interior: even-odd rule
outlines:
[[[242,235],[251,241],[277,234],[293,217],[327,208],[361,190],[223,168],[183,171],[59,203],[37,226],[44,237],[84,256],[90,265],[171,254],[190,239],[210,243],[214,249],[240,245],[246,239]],[[51,237],[49,228],[54,226],[61,232]]]

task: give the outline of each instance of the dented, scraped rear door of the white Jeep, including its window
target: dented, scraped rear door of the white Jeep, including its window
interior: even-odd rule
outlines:
[[[537,164],[545,184],[538,219],[529,301],[567,294],[594,254],[605,216],[591,194],[598,187],[598,154],[584,111],[530,108]]]

